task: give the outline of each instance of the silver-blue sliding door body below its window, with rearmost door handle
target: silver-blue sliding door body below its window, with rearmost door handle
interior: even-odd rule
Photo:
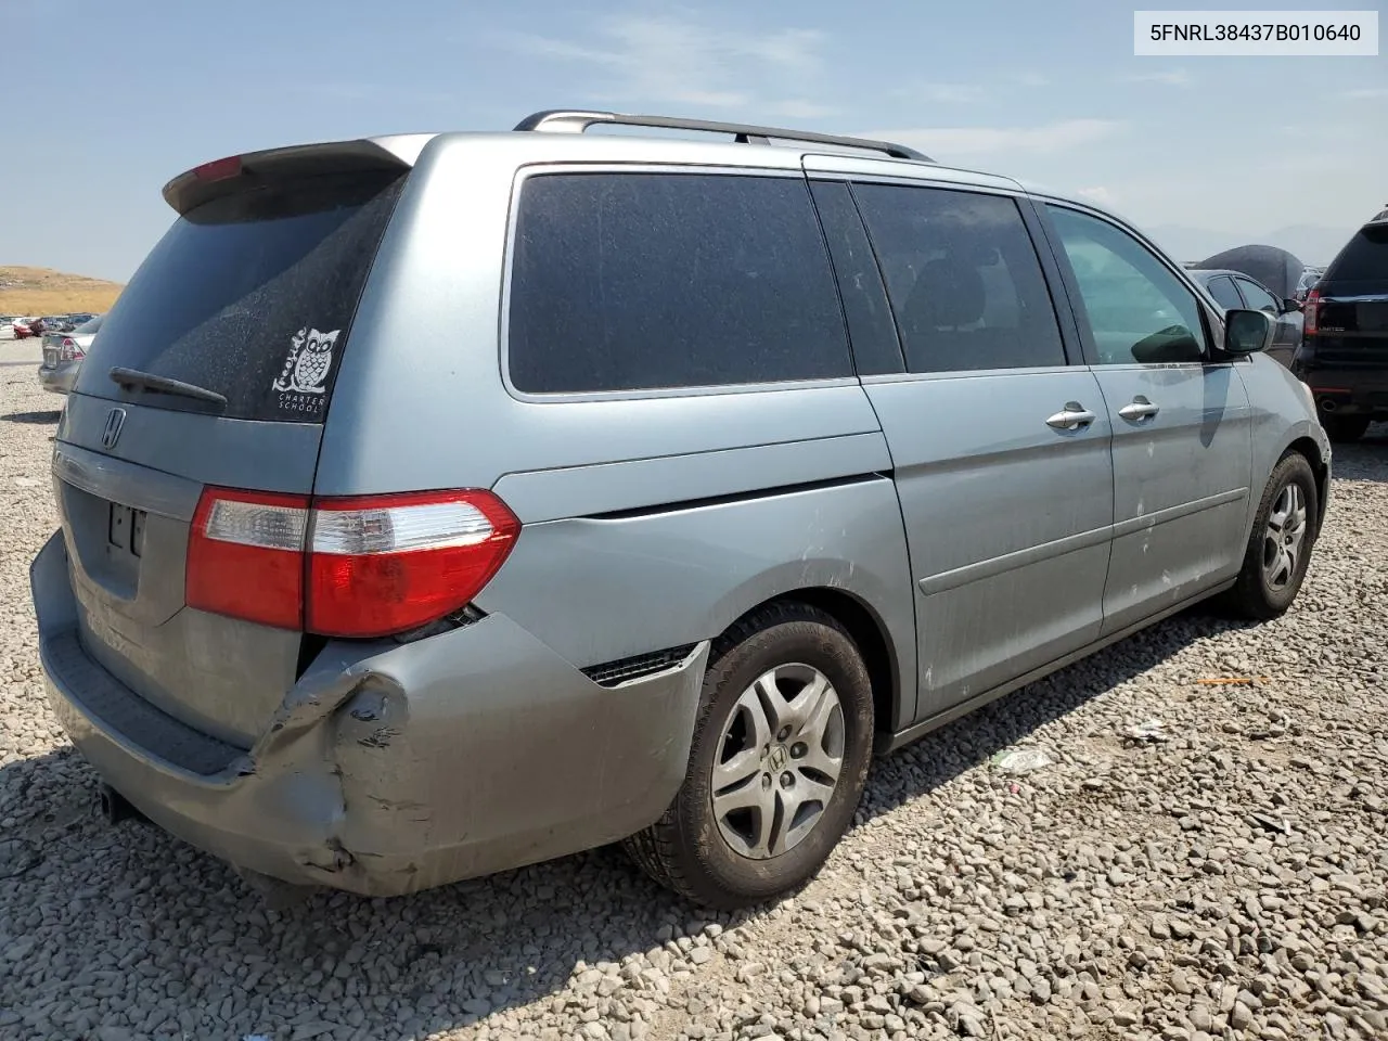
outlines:
[[[1110,425],[1083,368],[869,382],[917,586],[919,718],[1099,634]],[[1074,403],[1084,429],[1047,423]]]

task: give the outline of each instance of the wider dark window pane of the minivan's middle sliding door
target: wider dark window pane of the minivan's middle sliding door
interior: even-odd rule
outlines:
[[[1055,308],[1017,204],[855,185],[912,372],[1063,365]]]

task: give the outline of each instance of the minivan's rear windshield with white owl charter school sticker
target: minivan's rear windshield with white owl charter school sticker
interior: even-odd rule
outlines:
[[[322,422],[362,285],[404,178],[275,182],[180,217],[104,316],[78,391],[119,396],[112,368],[226,397],[236,419]],[[161,408],[193,398],[129,391]]]

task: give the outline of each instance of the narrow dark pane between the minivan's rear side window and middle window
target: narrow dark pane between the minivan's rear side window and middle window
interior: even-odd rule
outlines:
[[[887,290],[873,258],[858,207],[844,182],[813,182],[811,192],[834,261],[838,293],[848,318],[848,339],[859,375],[901,372],[901,343],[891,318]]]

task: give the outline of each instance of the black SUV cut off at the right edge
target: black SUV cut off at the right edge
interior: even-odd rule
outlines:
[[[1331,440],[1356,441],[1388,419],[1388,211],[1366,223],[1306,297],[1292,362]]]

